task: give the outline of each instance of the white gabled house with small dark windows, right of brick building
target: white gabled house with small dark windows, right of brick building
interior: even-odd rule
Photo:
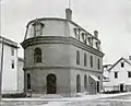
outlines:
[[[131,56],[129,59],[120,58],[105,72],[108,73],[103,80],[105,91],[131,91]]]

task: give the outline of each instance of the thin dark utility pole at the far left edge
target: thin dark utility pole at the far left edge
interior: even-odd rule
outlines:
[[[0,36],[1,42],[1,61],[0,61],[0,102],[2,99],[2,70],[3,70],[3,38]]]

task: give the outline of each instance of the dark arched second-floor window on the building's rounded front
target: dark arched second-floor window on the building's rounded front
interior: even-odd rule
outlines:
[[[34,62],[41,62],[41,49],[40,48],[36,48],[34,50]]]

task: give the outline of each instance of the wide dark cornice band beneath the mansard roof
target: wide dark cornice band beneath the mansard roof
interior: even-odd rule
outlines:
[[[62,36],[37,36],[33,38],[25,39],[21,45],[25,49],[28,46],[39,45],[39,44],[67,44],[73,45],[81,49],[84,49],[88,52],[97,55],[99,57],[104,57],[104,54],[92,46],[88,46],[73,37],[62,37]]]

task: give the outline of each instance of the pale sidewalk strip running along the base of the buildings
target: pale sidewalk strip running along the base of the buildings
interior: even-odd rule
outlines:
[[[92,101],[92,99],[99,99],[99,98],[107,98],[107,97],[115,97],[115,96],[122,96],[122,95],[130,95],[131,92],[128,93],[119,93],[119,94],[96,94],[96,95],[81,95],[80,97],[60,97],[60,98],[44,98],[44,97],[37,97],[37,98],[2,98],[3,102],[75,102],[75,101]]]

